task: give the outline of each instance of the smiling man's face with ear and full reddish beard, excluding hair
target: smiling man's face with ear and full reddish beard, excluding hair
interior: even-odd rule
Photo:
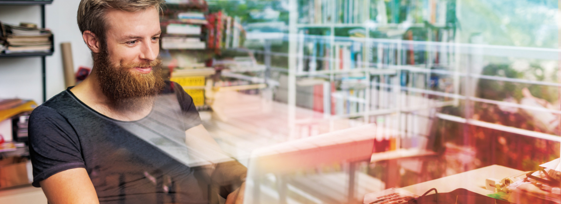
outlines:
[[[136,108],[163,86],[159,54],[157,10],[109,10],[107,31],[95,55],[95,75],[115,108]]]

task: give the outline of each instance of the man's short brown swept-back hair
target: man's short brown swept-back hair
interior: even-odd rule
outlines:
[[[104,40],[107,31],[105,12],[108,10],[136,12],[155,7],[160,12],[164,2],[164,0],[81,0],[78,7],[78,27],[82,34],[89,30],[100,40]]]

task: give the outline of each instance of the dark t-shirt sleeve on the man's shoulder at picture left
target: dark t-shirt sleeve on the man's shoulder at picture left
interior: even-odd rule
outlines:
[[[29,117],[29,153],[33,165],[33,186],[63,170],[85,168],[80,141],[66,118],[46,106]]]

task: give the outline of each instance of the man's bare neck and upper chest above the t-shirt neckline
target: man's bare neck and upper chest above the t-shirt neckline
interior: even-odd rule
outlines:
[[[109,100],[100,87],[98,80],[96,79],[95,72],[92,72],[88,78],[82,81],[80,84],[72,87],[70,91],[78,98],[80,101],[85,103],[85,105],[93,108],[93,110],[113,118],[115,120],[121,121],[135,121],[144,118],[150,113],[151,99],[146,99],[147,103],[144,106],[139,106],[136,108],[117,108],[114,107],[113,103]]]

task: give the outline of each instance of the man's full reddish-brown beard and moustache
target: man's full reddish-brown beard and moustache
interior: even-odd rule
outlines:
[[[135,67],[152,67],[148,74],[138,73]],[[107,49],[94,56],[94,72],[109,106],[118,111],[135,111],[150,106],[154,96],[165,86],[162,61],[118,64],[109,58]]]

